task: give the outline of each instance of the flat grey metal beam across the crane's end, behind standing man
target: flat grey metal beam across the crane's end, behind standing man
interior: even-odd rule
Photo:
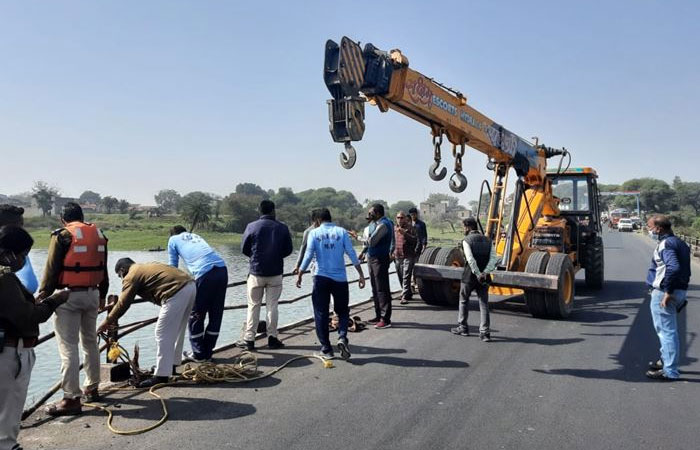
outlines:
[[[437,264],[416,264],[413,276],[427,280],[456,280],[462,279],[464,267],[441,266]],[[494,271],[491,272],[492,286],[513,287],[519,289],[542,289],[557,291],[559,277],[556,275],[540,275],[536,273]]]

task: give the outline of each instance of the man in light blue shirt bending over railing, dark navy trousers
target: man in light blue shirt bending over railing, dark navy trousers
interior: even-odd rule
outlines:
[[[184,360],[207,361],[212,357],[224,315],[228,285],[226,263],[204,239],[188,233],[180,225],[170,230],[168,258],[173,267],[177,267],[182,258],[197,284],[197,297],[188,322],[192,351],[183,352]],[[204,319],[207,315],[209,323],[205,329]]]

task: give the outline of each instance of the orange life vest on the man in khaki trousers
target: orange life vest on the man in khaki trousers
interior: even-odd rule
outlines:
[[[104,279],[107,239],[91,223],[71,222],[65,228],[70,232],[72,240],[58,277],[59,285],[97,286]]]

